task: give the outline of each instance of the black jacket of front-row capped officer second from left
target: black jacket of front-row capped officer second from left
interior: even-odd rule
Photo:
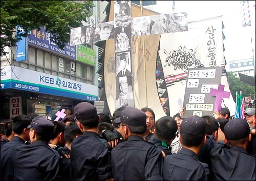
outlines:
[[[96,132],[85,131],[71,145],[72,180],[105,180],[112,177],[110,146]]]

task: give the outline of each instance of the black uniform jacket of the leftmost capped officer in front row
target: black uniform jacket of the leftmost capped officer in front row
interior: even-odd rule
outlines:
[[[33,141],[16,149],[14,180],[60,179],[60,155],[45,141]]]

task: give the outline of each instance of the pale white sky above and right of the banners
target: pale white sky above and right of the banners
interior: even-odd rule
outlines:
[[[157,2],[158,7],[155,11],[164,14],[172,10],[172,1]],[[224,40],[226,61],[253,57],[251,43],[253,31],[250,26],[242,26],[240,1],[175,1],[175,12],[187,12],[188,21],[222,15],[225,27],[223,32],[226,37]]]

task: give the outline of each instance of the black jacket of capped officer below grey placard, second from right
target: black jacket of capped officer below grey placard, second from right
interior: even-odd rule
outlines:
[[[187,149],[164,157],[164,180],[208,180],[208,165],[198,160],[198,155]]]

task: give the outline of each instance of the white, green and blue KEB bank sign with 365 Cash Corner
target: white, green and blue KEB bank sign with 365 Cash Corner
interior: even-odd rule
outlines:
[[[15,73],[15,75],[14,75]],[[11,87],[31,92],[98,101],[98,87],[62,77],[15,67]]]

